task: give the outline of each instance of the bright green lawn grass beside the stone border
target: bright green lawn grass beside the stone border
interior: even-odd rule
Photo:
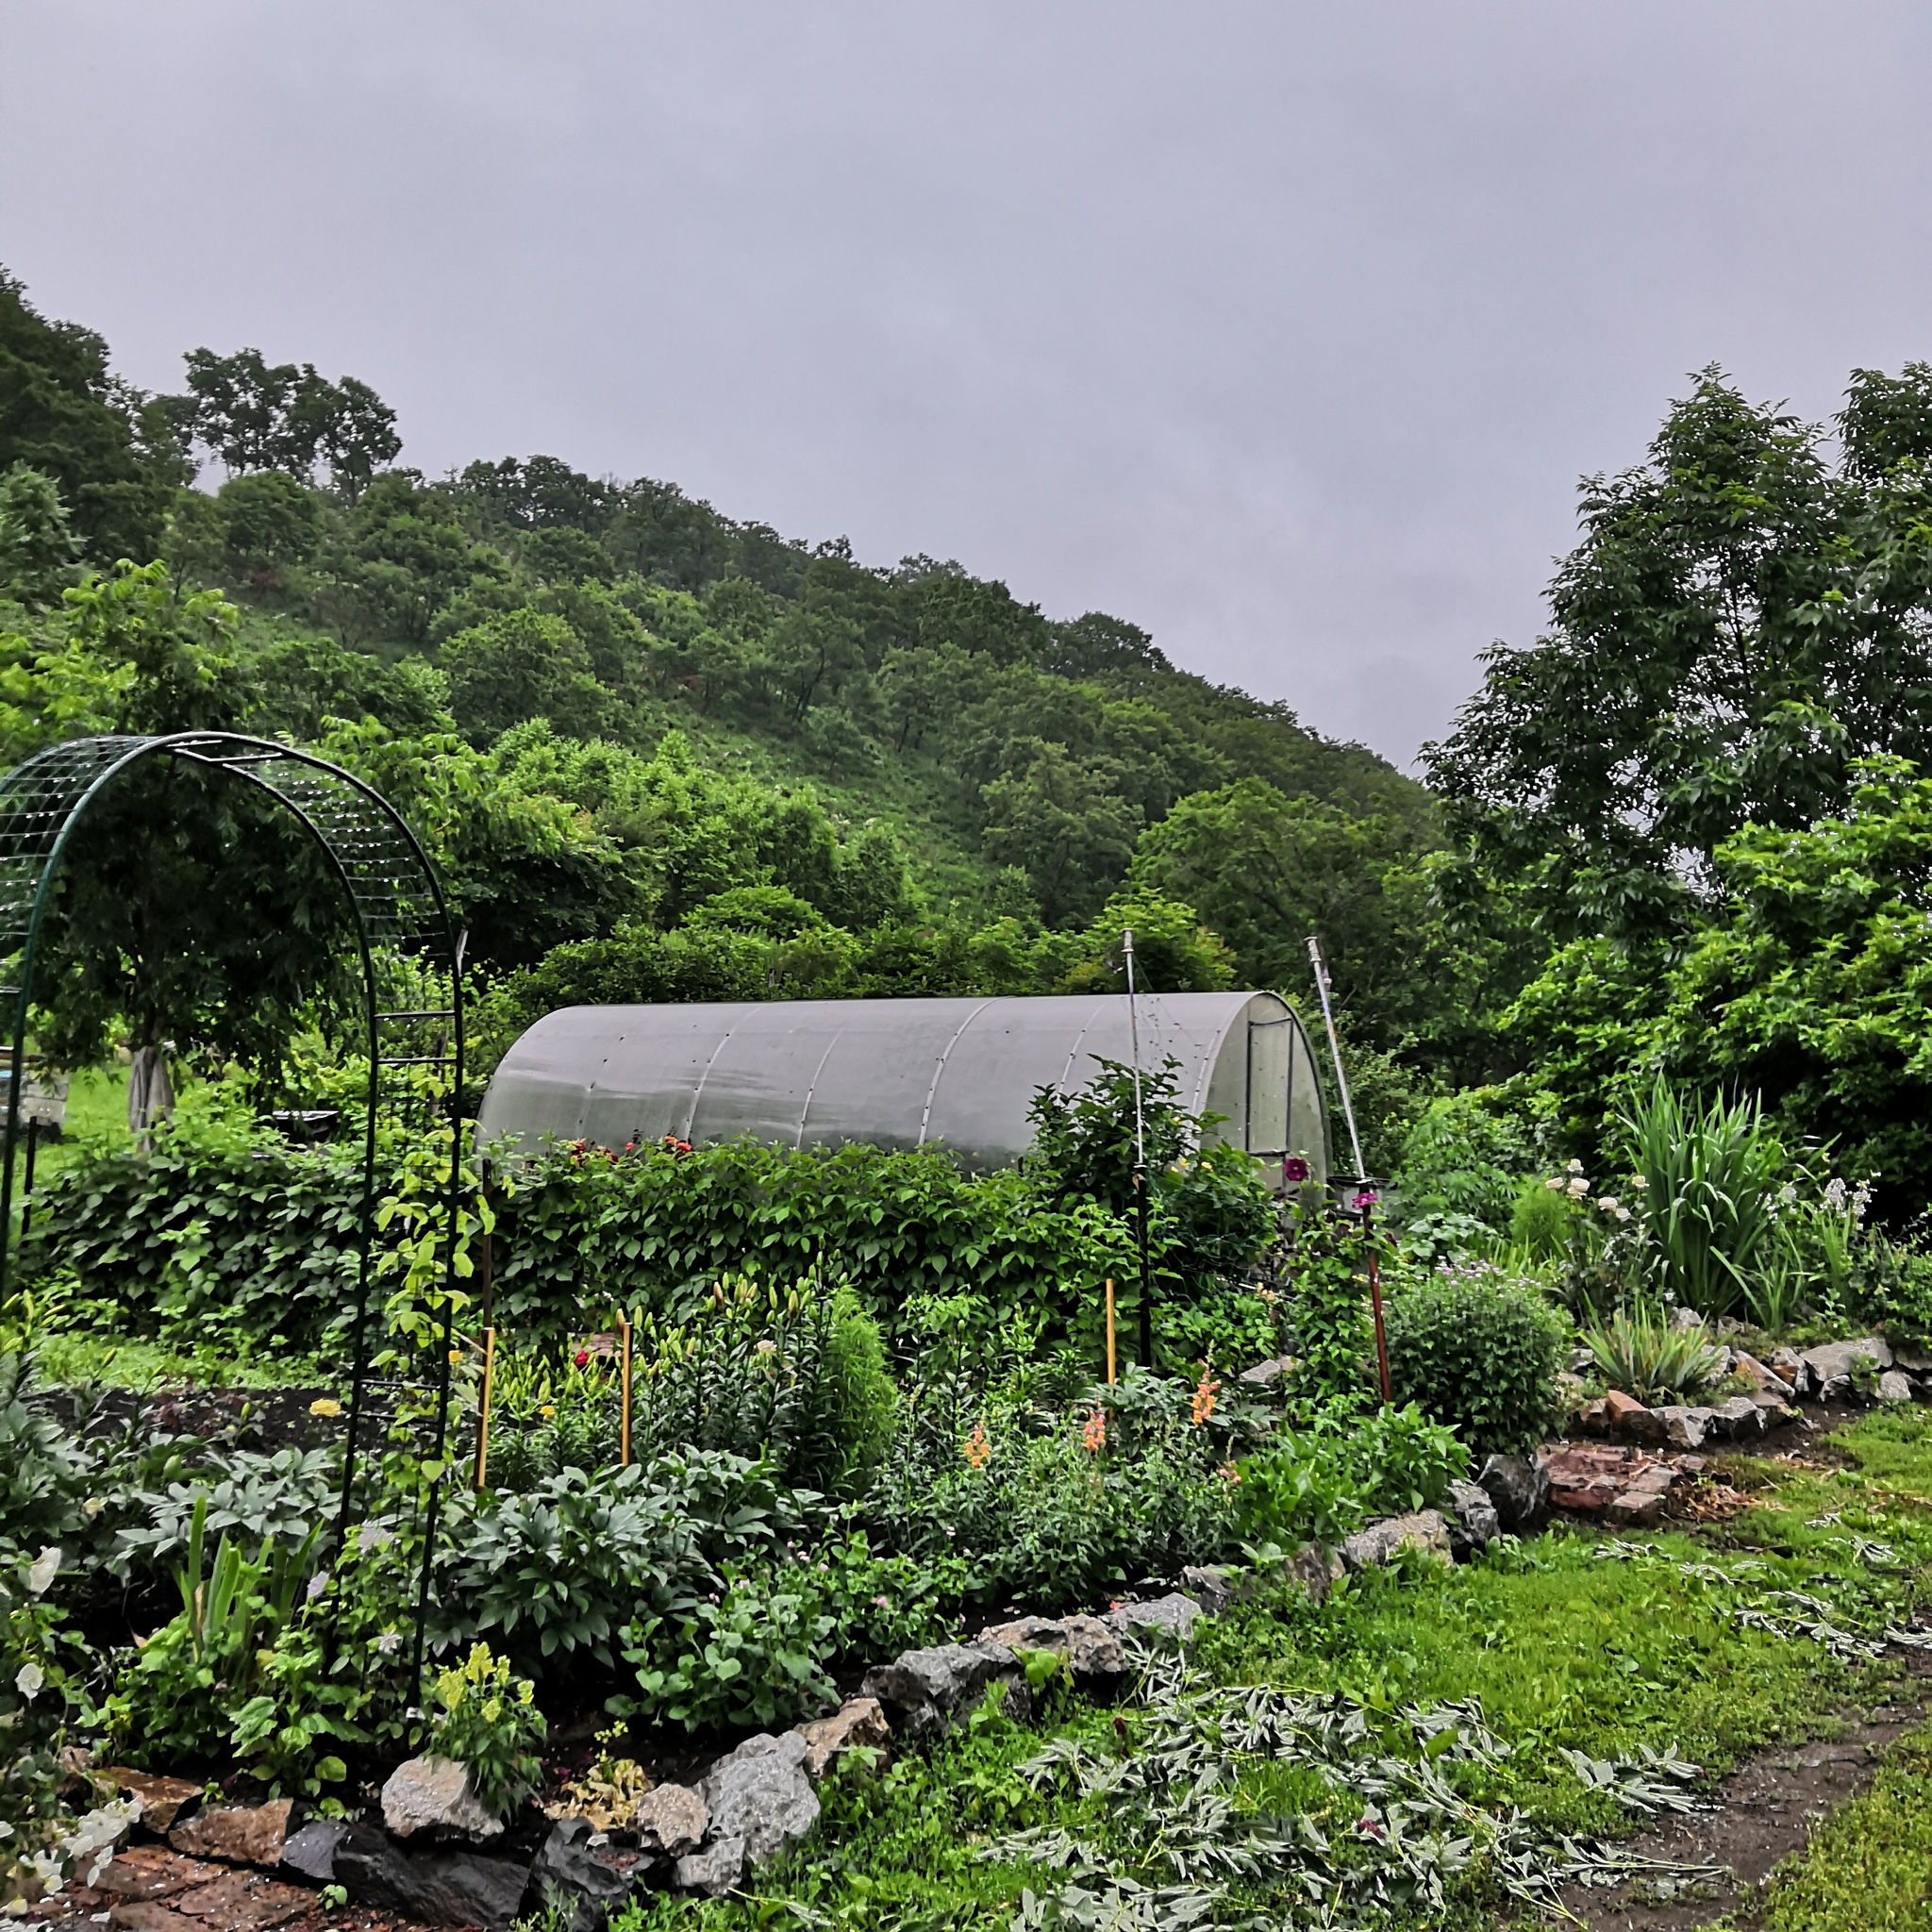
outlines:
[[[1874,1578],[1891,1590],[1893,1609],[1932,1600],[1932,1509],[1920,1501],[1932,1495],[1932,1416],[1878,1412],[1832,1445],[1843,1468],[1739,1461],[1727,1474],[1754,1486],[1745,1515],[1698,1534],[1644,1538],[1648,1551],[1634,1559],[1605,1561],[1598,1553],[1609,1548],[1605,1538],[1557,1528],[1451,1573],[1379,1573],[1325,1605],[1277,1594],[1235,1607],[1204,1627],[1196,1662],[1221,1683],[1341,1689],[1378,1708],[1476,1696],[1513,1747],[1492,1804],[1520,1806],[1563,1832],[1627,1835],[1642,1820],[1586,1791],[1563,1748],[1609,1758],[1636,1745],[1675,1745],[1716,1779],[1770,1743],[1830,1733],[1837,1712],[1895,1692],[1903,1675],[1895,1654],[1845,1663],[1810,1640],[1741,1629],[1733,1590],[1677,1569],[1756,1563],[1754,1588],[1803,1588],[1847,1607],[1862,1602],[1866,1627],[1886,1615],[1861,1596]],[[1874,1557],[1878,1544],[1889,1559]],[[1043,1824],[1107,1828],[1105,1816],[1036,1797],[1014,1776],[1016,1764],[1066,1731],[1105,1743],[1113,1714],[1070,1698],[1032,1725],[989,1714],[883,1776],[833,1779],[819,1832],[759,1874],[755,1897],[663,1899],[634,1924],[1005,1928],[1022,1888],[1049,1888],[1053,1878],[987,1862],[991,1837]],[[1779,1932],[1926,1924],[1917,1901],[1932,1874],[1928,1795],[1932,1739],[1901,1752],[1878,1789],[1820,1833],[1803,1870],[1781,1882],[1772,1909],[1783,1917],[1770,1924]],[[1264,1760],[1242,1797],[1275,1808],[1293,1793],[1269,1779]],[[1252,1903],[1275,1913],[1281,1905],[1260,1895]],[[1447,1918],[1387,1922],[1482,1926],[1497,1917],[1474,1884]]]

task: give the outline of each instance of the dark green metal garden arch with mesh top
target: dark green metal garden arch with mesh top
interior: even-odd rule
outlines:
[[[12,1003],[12,1074],[8,1080],[6,1146],[0,1157],[0,1294],[8,1285],[14,1217],[14,1150],[19,1140],[21,1076],[27,1053],[27,1010],[33,1001],[35,952],[52,902],[60,860],[75,827],[108,786],[135,765],[174,757],[232,771],[286,806],[321,846],[348,893],[361,952],[363,1012],[369,1049],[369,1109],[363,1128],[363,1198],[355,1285],[355,1360],[350,1381],[348,1432],[342,1455],[340,1540],[348,1534],[355,1484],[357,1426],[369,1372],[369,1281],[375,1235],[375,1126],[384,1066],[423,1065],[423,1055],[383,1053],[383,1028],[448,1020],[450,1065],[450,1188],[446,1202],[446,1277],[442,1349],[437,1372],[437,1451],[444,1461],[450,1408],[450,1341],[454,1323],[456,1246],[462,1213],[462,1084],[464,991],[462,939],[452,922],[435,867],[396,808],[371,784],[294,746],[240,732],[172,732],[155,738],[75,738],[37,752],[0,777],[0,968],[14,962],[14,983],[0,985],[0,1016]],[[427,954],[450,976],[450,1007],[384,1012],[377,999],[377,952]],[[423,1580],[417,1602],[415,1667],[421,1673],[423,1613],[437,1536],[440,1478],[431,1484]]]

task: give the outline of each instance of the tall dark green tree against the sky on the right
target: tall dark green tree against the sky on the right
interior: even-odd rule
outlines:
[[[1551,630],[1497,645],[1424,755],[1451,829],[1557,937],[1681,929],[1747,823],[1803,829],[1851,761],[1932,753],[1932,369],[1857,371],[1826,433],[1716,371],[1644,464],[1582,485]]]

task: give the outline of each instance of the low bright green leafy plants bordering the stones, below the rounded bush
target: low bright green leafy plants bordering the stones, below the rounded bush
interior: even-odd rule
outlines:
[[[1468,1474],[1455,1430],[1414,1403],[1314,1416],[1240,1464],[1236,1520],[1248,1542],[1341,1542],[1372,1515],[1439,1503]]]

